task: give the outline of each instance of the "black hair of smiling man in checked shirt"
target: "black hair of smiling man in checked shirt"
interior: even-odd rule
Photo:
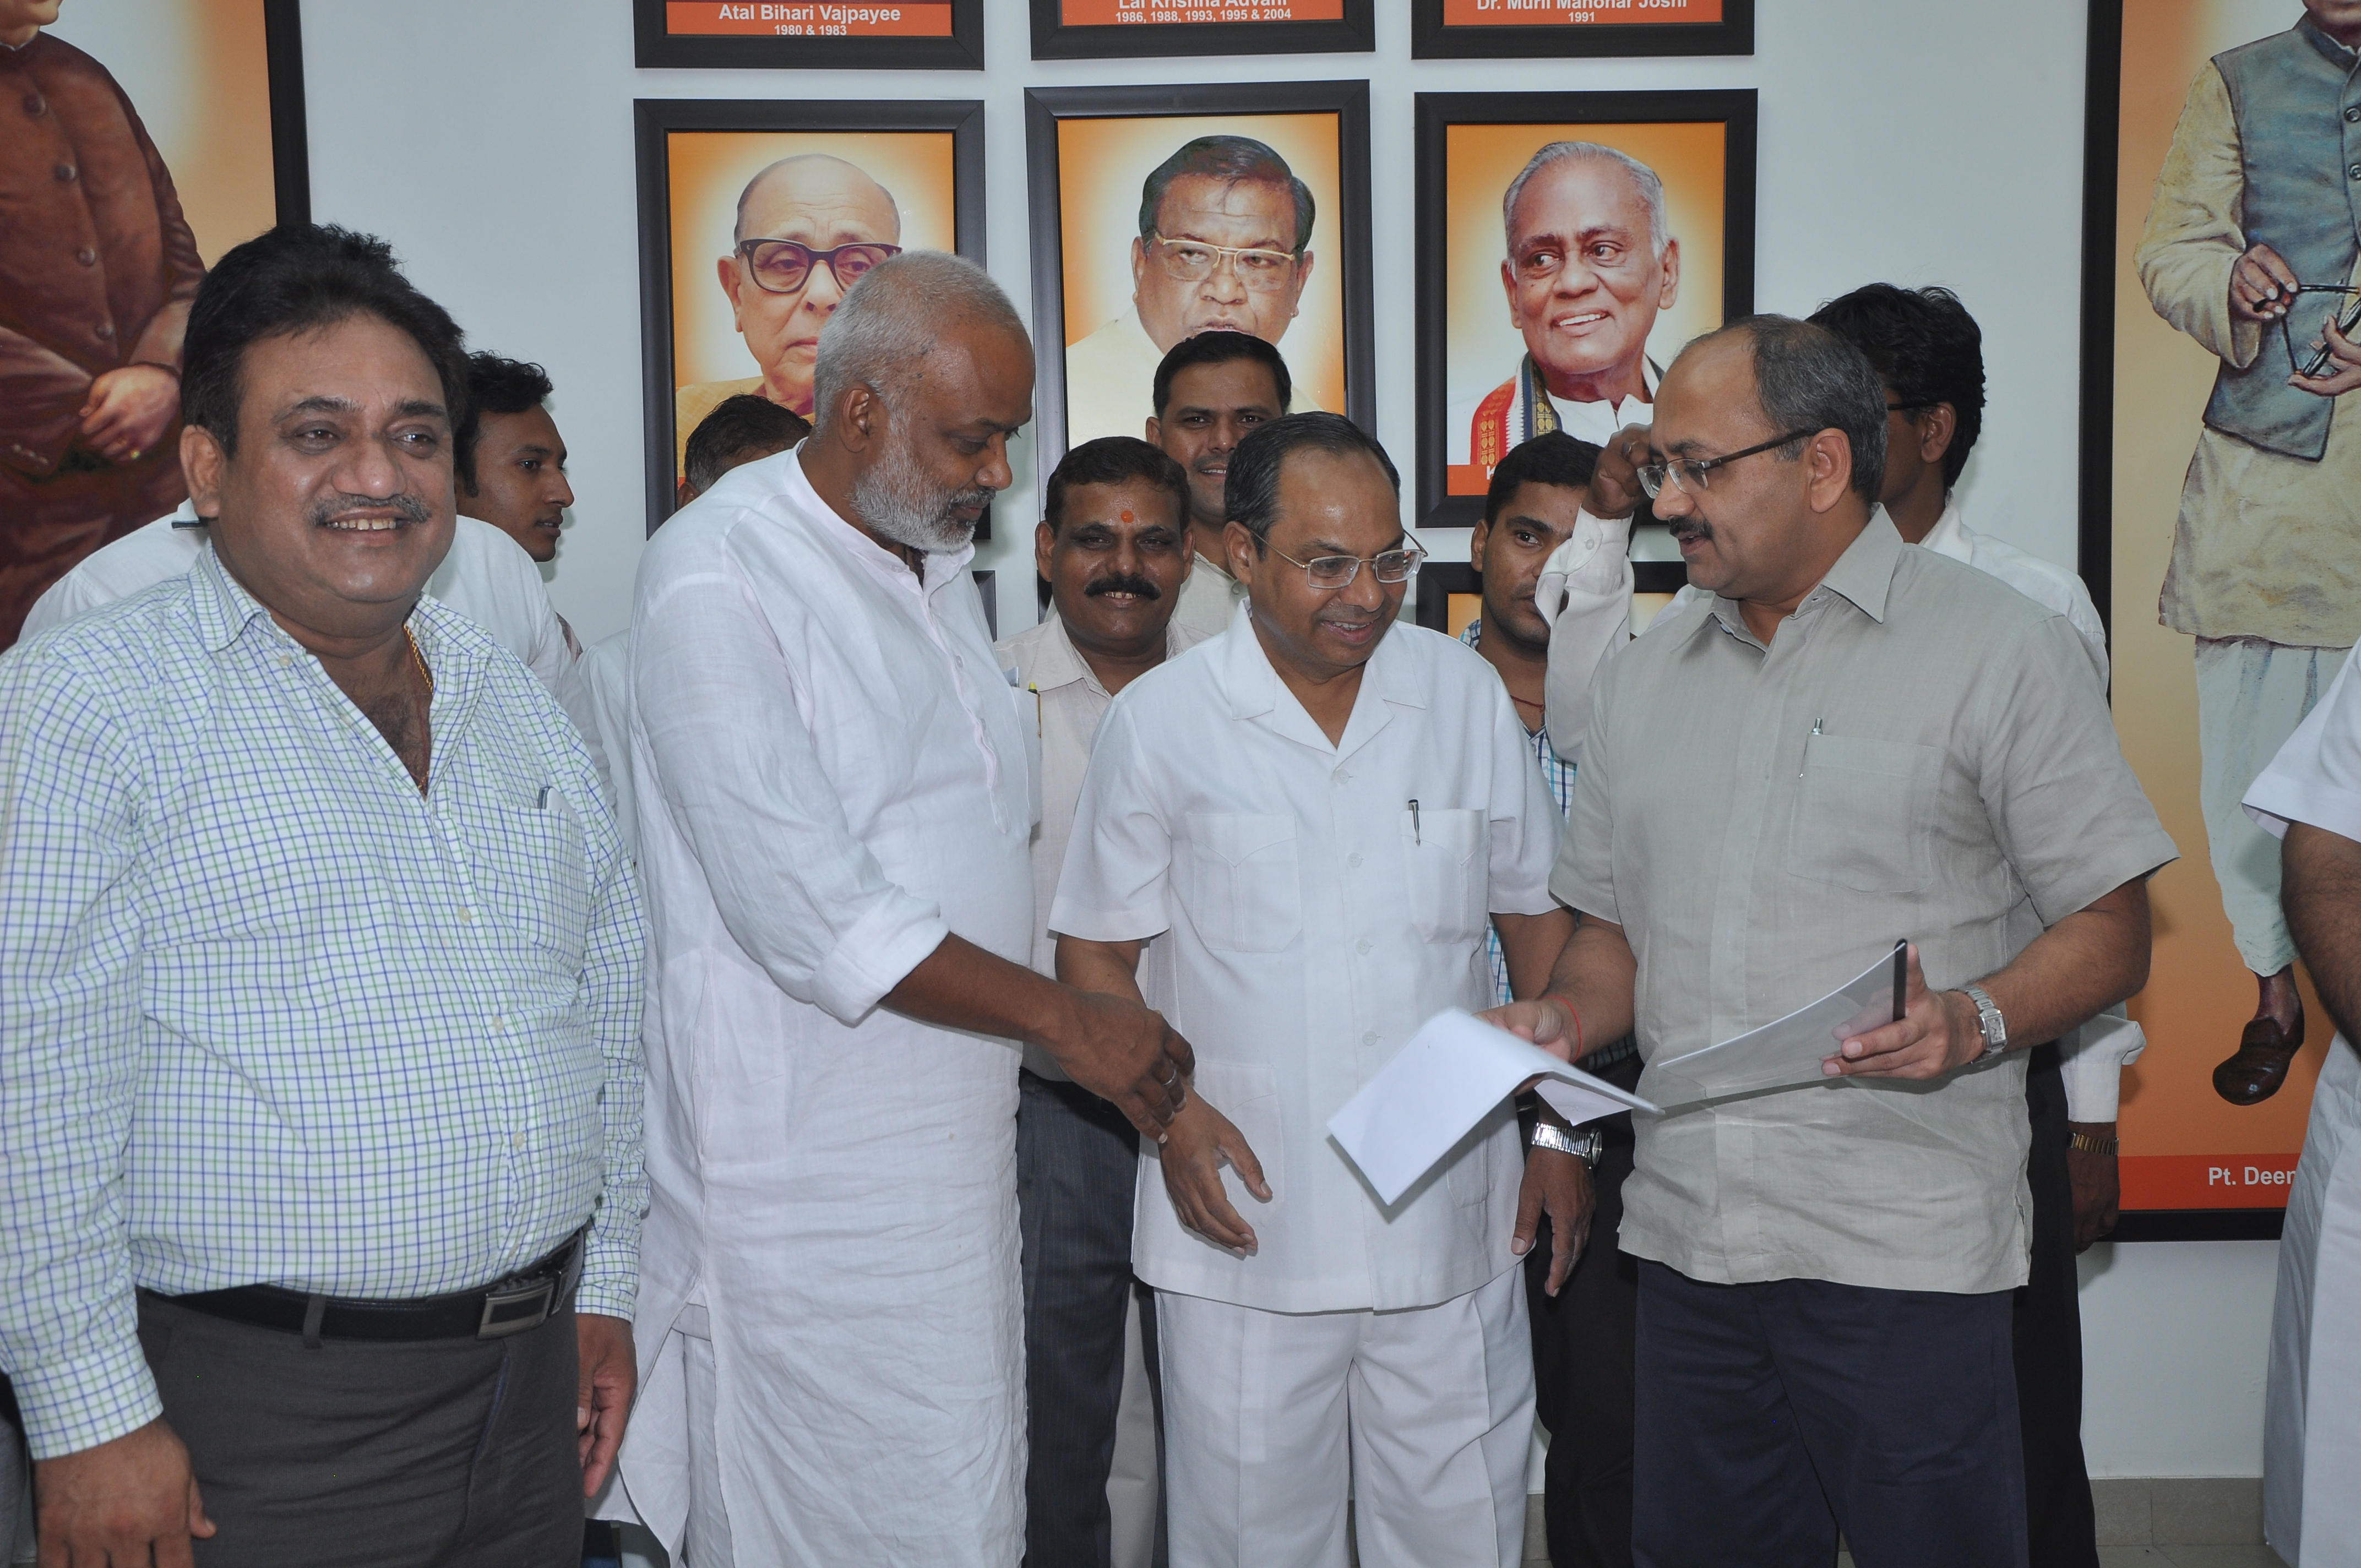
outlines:
[[[475,401],[467,345],[458,324],[394,267],[394,248],[333,224],[279,224],[234,246],[189,307],[179,352],[179,418],[208,430],[222,451],[238,446],[238,366],[262,338],[309,333],[349,316],[375,316],[406,333],[434,366],[451,416],[451,456],[475,465]]]

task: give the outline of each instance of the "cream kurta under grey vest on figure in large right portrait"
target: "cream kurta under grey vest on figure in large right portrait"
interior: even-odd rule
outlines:
[[[2229,87],[2208,64],[2172,130],[2132,260],[2156,314],[2234,366],[2288,352],[2276,326],[2262,331],[2229,309],[2229,274],[2245,255],[2243,189]],[[2319,338],[2321,316],[2335,305],[2330,295],[2297,298],[2290,319],[2297,354]],[[2262,451],[2212,427],[2198,432],[2158,600],[2165,626],[2196,638],[2267,638],[2290,647],[2361,640],[2361,486],[2354,484],[2361,418],[2344,411],[2344,397],[2319,463]]]

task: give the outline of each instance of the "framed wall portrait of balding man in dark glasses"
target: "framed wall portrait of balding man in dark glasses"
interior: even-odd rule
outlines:
[[[756,392],[812,416],[819,328],[902,250],[985,260],[985,106],[637,99],[647,527],[696,420]]]

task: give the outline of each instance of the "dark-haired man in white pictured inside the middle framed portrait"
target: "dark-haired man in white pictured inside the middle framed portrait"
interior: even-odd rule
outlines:
[[[1197,137],[1140,184],[1131,309],[1065,352],[1065,437],[1138,435],[1164,354],[1197,333],[1277,342],[1313,276],[1308,184],[1254,137]],[[1301,385],[1294,411],[1310,413]]]

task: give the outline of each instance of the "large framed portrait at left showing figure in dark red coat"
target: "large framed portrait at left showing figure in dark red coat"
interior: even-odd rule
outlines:
[[[231,246],[312,215],[302,17],[66,0],[7,57],[5,104],[0,649],[50,583],[189,494],[196,288]]]

